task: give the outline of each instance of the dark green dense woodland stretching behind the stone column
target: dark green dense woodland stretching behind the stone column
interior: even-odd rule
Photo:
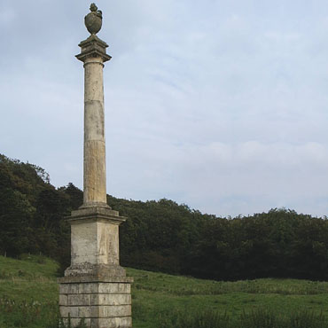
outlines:
[[[204,215],[173,200],[107,196],[127,216],[120,230],[121,264],[193,277],[236,280],[298,277],[328,280],[328,220],[271,209],[252,216]],[[328,199],[327,199],[328,202]],[[0,254],[44,254],[69,265],[65,217],[82,191],[56,189],[43,168],[0,154]]]

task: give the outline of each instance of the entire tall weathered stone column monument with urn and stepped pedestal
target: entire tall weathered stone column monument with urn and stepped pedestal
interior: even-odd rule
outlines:
[[[83,205],[68,219],[71,266],[59,278],[59,308],[72,327],[82,318],[90,328],[128,328],[131,277],[119,259],[119,225],[126,220],[107,205],[105,190],[104,63],[108,45],[96,35],[102,12],[91,4],[85,16],[90,36],[76,56],[84,63]]]

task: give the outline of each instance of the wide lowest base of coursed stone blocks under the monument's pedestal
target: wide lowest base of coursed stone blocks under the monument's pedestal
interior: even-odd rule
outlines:
[[[88,328],[130,328],[131,277],[59,278],[59,308],[72,327],[82,318]]]

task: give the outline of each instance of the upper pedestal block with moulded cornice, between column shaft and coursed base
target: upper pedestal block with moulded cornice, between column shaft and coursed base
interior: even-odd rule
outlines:
[[[66,276],[125,277],[119,265],[119,224],[126,220],[105,207],[82,207],[71,223],[71,266]]]

